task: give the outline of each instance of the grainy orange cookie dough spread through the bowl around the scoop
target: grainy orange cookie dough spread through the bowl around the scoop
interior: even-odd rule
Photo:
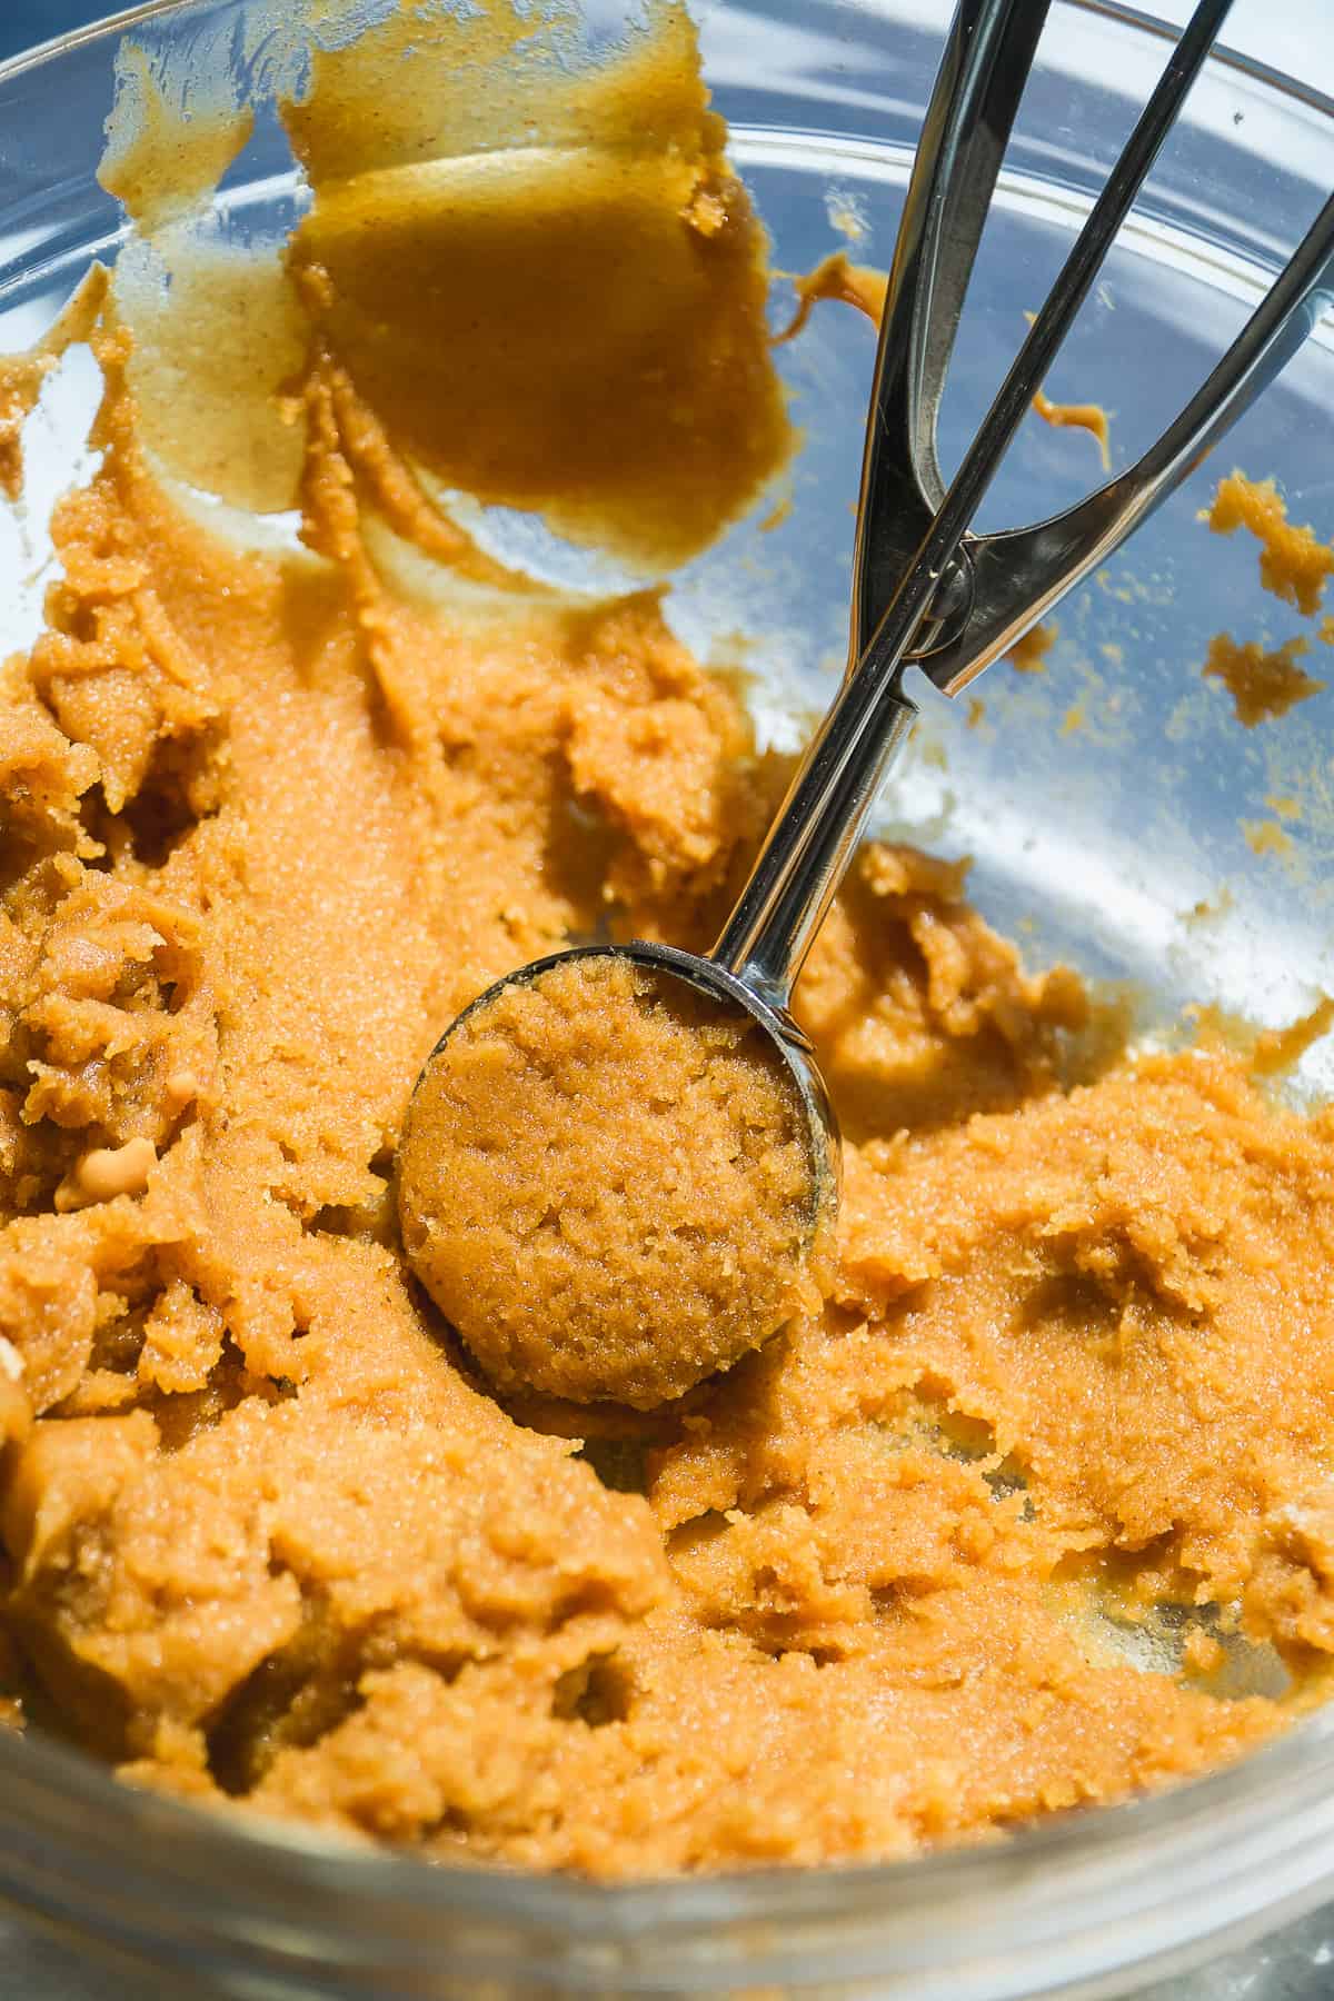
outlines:
[[[448,64],[490,32],[414,10],[426,46],[436,22]],[[422,106],[410,68],[384,88],[390,44],[366,96],[394,136]],[[526,234],[472,154],[436,214],[448,180],[400,138],[382,162],[356,54],[324,60],[302,144],[332,224],[296,262],[314,282],[328,252],[348,292],[286,390],[300,546],[224,536],[162,480],[118,278],[96,470],[54,518],[46,628],[0,672],[0,1719],[216,1811],[610,1879],[908,1855],[1242,1755],[1334,1659],[1334,1117],[1226,1047],[1108,1047],[960,862],[868,844],[816,940],[796,1013],[844,1131],[838,1243],[762,1349],[652,1413],[512,1415],[412,1279],[396,1155],[442,1031],[580,936],[708,948],[784,768],[658,592],[466,568],[420,474],[430,398],[478,414],[470,464],[482,412],[512,452],[510,358],[462,300],[504,270],[540,300],[570,236],[550,188],[550,240]],[[456,92],[474,152],[486,74]],[[604,262],[572,178],[590,340],[634,398],[624,474],[608,434],[564,460],[564,420],[526,474],[622,540],[666,458],[598,318],[624,298],[654,348],[650,288],[604,282],[610,252],[678,228],[718,284],[694,354],[756,338],[732,284],[756,240],[710,256],[722,136],[670,74],[684,152],[636,140]],[[702,198],[668,222],[678,174]],[[404,346],[366,332],[352,214],[390,224],[390,284],[422,226]],[[446,244],[470,260],[426,354]],[[390,352],[428,376],[372,406]],[[726,394],[686,426],[710,516],[738,434],[772,438],[762,370]],[[634,1165],[646,1107],[624,1113]]]

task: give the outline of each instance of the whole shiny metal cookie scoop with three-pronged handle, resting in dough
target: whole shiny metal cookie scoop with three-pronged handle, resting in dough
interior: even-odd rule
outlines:
[[[880,328],[858,508],[850,666],[838,698],[802,756],[736,908],[706,958],[662,944],[592,946],[526,966],[484,992],[460,1017],[482,1011],[552,966],[620,958],[652,972],[660,992],[688,990],[758,1025],[786,1075],[804,1131],[810,1185],[806,1247],[838,1203],[838,1129],[812,1061],[788,1013],[792,986],[864,832],[888,764],[906,740],[914,706],[902,692],[918,664],[946,694],[958,694],[1086,576],[1170,494],[1300,348],[1334,288],[1334,198],[1228,348],[1200,392],[1144,456],[1050,520],[1004,534],[972,536],[968,524],[1030,408],[1102,260],[1130,212],[1176,112],[1218,34],[1230,0],[1202,0],[1144,108],[1114,172],[1032,322],[964,462],[944,486],[936,458],[936,414],[964,292],[992,200],[996,174],[1048,12],[1048,0],[960,0],[908,186]],[[432,1091],[456,1023],[418,1079],[414,1109]],[[626,1119],[638,1107],[626,1105]],[[408,1215],[404,1187],[414,1149],[432,1123],[408,1117],[400,1149],[400,1215],[418,1277],[432,1289],[430,1261],[414,1255],[430,1219]],[[432,1127],[434,1131],[434,1127]],[[532,1301],[534,1327],[542,1301]],[[460,1321],[458,1309],[452,1315]],[[464,1315],[466,1319],[466,1315]],[[460,1325],[464,1341],[470,1329]],[[654,1337],[672,1339],[670,1301]],[[772,1325],[754,1327],[754,1343]],[[552,1339],[558,1339],[554,1335]],[[480,1333],[472,1343],[486,1363]],[[554,1389],[542,1341],[524,1345],[530,1387]],[[692,1353],[688,1369],[664,1375],[676,1395],[738,1359],[736,1333],[714,1353]],[[512,1387],[514,1357],[508,1357]],[[616,1363],[582,1357],[578,1395],[622,1399]],[[566,1391],[568,1393],[568,1391]],[[652,1401],[638,1385],[630,1401]]]

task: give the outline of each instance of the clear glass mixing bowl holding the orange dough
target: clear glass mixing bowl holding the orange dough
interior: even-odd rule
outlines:
[[[1296,6],[1296,0],[1292,0]],[[614,12],[614,10],[612,10]],[[706,72],[782,272],[842,242],[888,258],[944,4],[756,0],[700,10]],[[1282,16],[1274,0],[1274,16]],[[28,344],[122,216],[96,182],[120,34],[200,80],[246,66],[272,90],[282,10],[146,6],[0,68],[0,348]],[[1112,0],[1058,0],[988,222],[942,420],[946,468],[976,422],[1166,54]],[[1330,182],[1334,104],[1220,54],[1114,250],[1050,390],[1112,412],[1126,464],[1186,400]],[[272,116],[226,176],[218,228],[264,236],[300,204]],[[778,290],[776,314],[786,292]],[[806,446],[790,518],[742,524],[676,584],[708,652],[752,634],[760,726],[796,740],[842,666],[870,330],[822,310],[782,350]],[[0,650],[32,636],[40,512],[78,466],[88,380],[38,414],[32,520],[0,520]],[[82,400],[80,400],[82,398]],[[972,894],[1034,960],[1122,982],[1140,1031],[1186,1003],[1282,1025],[1334,986],[1334,694],[1248,734],[1202,680],[1218,630],[1296,630],[1254,546],[1198,520],[1232,464],[1276,474],[1292,514],[1334,522],[1334,338],[1298,362],[1106,572],[1058,614],[1040,676],[992,670],[966,714],[924,686],[886,828],[972,852]],[[1080,434],[1030,420],[982,526],[1098,478]],[[522,538],[500,522],[496,536]],[[36,550],[36,556],[34,556]],[[568,552],[538,552],[552,566]],[[1318,656],[1320,646],[1314,648]],[[1308,662],[1320,672],[1320,660]],[[1278,804],[1276,804],[1278,800]],[[1298,1095],[1334,1083],[1316,1045]],[[594,1887],[434,1869],[132,1793],[72,1751],[0,1731],[0,1897],[96,1947],[122,1991],[248,1997],[818,1989],[912,2001],[1122,1995],[1276,1927],[1334,1891],[1334,1709],[1240,1767],[972,1851],[888,1867],[756,1871]],[[146,1973],[152,1969],[152,1973]]]

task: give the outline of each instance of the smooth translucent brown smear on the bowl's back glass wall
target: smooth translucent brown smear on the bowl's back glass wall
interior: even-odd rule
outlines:
[[[596,66],[522,58],[530,32],[494,10],[424,38],[408,10],[318,50],[286,110],[316,196],[292,268],[438,480],[662,568],[792,448],[764,234],[684,10]]]

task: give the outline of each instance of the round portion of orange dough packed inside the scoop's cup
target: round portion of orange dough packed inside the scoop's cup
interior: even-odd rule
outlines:
[[[404,1251],[504,1391],[652,1407],[812,1297],[800,1097],[740,1009],[566,960],[454,1029],[398,1155]]]

